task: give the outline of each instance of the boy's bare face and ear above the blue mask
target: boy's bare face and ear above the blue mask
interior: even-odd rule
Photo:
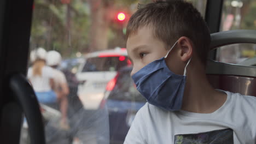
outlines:
[[[183,75],[185,64],[187,64],[185,61],[188,61],[191,57],[191,55],[184,54],[188,51],[186,39],[180,38],[179,43],[176,44],[178,49],[173,49],[166,58],[168,68],[175,74]],[[172,47],[172,45],[169,47]],[[127,39],[126,48],[133,64],[131,75],[147,64],[166,56],[168,52],[165,44],[154,37],[152,28],[148,26],[139,28],[136,33],[131,34]]]

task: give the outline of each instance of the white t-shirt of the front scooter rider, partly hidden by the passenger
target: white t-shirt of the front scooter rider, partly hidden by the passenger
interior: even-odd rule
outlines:
[[[61,87],[61,84],[67,83],[67,79],[62,71],[53,69],[53,76],[54,76],[54,90],[58,91]]]

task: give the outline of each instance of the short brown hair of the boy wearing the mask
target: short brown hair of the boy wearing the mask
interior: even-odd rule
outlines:
[[[126,39],[143,26],[152,27],[154,37],[163,41],[167,49],[178,38],[188,37],[193,41],[201,62],[206,64],[211,43],[210,31],[199,11],[191,3],[174,0],[145,5],[131,16]]]

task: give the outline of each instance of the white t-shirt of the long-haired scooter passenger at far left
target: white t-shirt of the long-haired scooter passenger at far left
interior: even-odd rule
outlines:
[[[48,66],[42,68],[42,75],[33,75],[33,68],[29,68],[27,77],[33,86],[35,92],[49,92],[51,91],[50,79],[53,78],[54,70]]]

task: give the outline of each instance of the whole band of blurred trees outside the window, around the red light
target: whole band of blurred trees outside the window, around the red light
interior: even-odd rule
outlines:
[[[152,0],[37,0],[34,2],[31,47],[57,50],[64,57],[78,51],[124,47],[123,28],[115,21],[115,15],[121,10],[129,18],[138,3],[149,2]]]

